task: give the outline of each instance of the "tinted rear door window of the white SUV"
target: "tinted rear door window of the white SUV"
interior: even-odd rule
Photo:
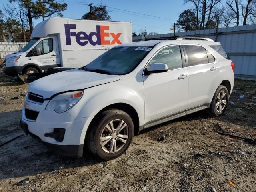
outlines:
[[[196,45],[184,45],[188,56],[188,66],[208,63],[208,57],[205,48]]]

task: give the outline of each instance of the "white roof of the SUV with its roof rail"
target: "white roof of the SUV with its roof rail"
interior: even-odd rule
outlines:
[[[166,46],[171,44],[198,44],[198,45],[219,45],[219,42],[206,41],[206,40],[149,40],[149,41],[137,41],[131,43],[124,43],[118,46],[148,46],[153,47],[156,44],[159,46]],[[118,47],[117,46],[117,47]]]

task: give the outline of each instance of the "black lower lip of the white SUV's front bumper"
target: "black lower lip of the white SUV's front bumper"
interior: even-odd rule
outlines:
[[[60,156],[66,156],[70,158],[79,158],[83,156],[84,144],[80,145],[58,145],[42,141],[41,138],[28,130],[28,124],[20,118],[20,126],[26,135],[32,136],[32,138],[42,142],[50,151]]]

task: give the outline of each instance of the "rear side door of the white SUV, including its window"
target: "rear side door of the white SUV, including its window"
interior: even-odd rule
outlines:
[[[216,58],[203,46],[183,45],[183,48],[189,74],[186,113],[191,113],[209,106],[220,66],[216,63]]]

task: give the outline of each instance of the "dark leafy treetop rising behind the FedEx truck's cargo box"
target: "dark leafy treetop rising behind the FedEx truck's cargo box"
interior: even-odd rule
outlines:
[[[101,6],[92,6],[89,4],[90,12],[84,14],[82,19],[90,19],[90,20],[102,20],[102,21],[110,21],[111,17],[108,15],[108,10],[106,10],[106,5]]]

